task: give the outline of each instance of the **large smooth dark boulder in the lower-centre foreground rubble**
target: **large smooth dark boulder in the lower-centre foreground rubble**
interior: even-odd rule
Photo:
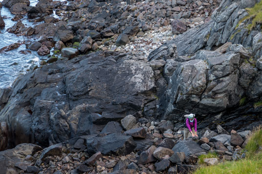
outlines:
[[[86,138],[88,154],[101,152],[104,155],[128,155],[136,147],[131,136],[111,133],[104,137],[89,136]],[[97,144],[100,144],[97,146]]]

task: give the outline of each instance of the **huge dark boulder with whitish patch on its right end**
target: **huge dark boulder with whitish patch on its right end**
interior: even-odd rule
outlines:
[[[0,110],[0,121],[9,120],[9,145],[48,146],[98,134],[109,121],[133,115],[145,100],[156,99],[153,76],[143,58],[110,52],[56,61],[20,76]]]

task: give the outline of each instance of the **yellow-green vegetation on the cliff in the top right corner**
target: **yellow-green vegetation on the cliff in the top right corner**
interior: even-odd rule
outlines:
[[[239,24],[246,19],[252,19],[252,23],[247,26],[247,29],[252,30],[258,23],[262,23],[262,1],[257,3],[253,8],[246,8],[248,15],[239,21]],[[237,25],[237,27],[239,26]]]

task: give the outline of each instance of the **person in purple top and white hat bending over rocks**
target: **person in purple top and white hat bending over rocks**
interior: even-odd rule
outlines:
[[[186,118],[186,127],[184,128],[184,139],[188,137],[196,137],[198,138],[197,135],[197,121],[195,118],[195,114],[190,114]]]

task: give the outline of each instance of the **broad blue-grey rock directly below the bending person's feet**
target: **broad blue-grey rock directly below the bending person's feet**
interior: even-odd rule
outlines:
[[[191,139],[178,142],[172,149],[174,153],[184,152],[185,156],[205,152],[195,141]]]

